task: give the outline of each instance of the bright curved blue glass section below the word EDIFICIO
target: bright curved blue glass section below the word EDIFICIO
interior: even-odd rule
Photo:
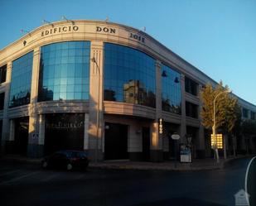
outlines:
[[[89,41],[41,47],[38,101],[89,99]]]

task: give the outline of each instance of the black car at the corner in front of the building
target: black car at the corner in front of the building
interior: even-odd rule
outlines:
[[[89,165],[88,155],[85,151],[56,151],[51,156],[41,160],[41,167],[73,170],[74,168],[86,170]]]

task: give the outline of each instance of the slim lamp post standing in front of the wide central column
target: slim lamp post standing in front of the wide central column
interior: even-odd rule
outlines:
[[[96,65],[96,68],[98,70],[98,106],[97,106],[97,117],[96,117],[96,127],[97,127],[97,131],[96,131],[96,148],[95,148],[95,152],[94,152],[94,159],[95,162],[98,162],[98,147],[99,147],[99,93],[100,93],[100,69],[99,69],[99,65],[95,59],[95,57],[90,59],[92,62],[94,62],[94,64]]]

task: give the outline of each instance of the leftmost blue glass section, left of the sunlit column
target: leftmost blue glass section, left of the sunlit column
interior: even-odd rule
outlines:
[[[33,51],[12,62],[9,108],[30,103]]]

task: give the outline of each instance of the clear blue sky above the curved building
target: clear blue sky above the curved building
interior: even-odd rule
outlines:
[[[256,105],[256,0],[0,0],[0,49],[49,22],[104,20],[141,29]]]

